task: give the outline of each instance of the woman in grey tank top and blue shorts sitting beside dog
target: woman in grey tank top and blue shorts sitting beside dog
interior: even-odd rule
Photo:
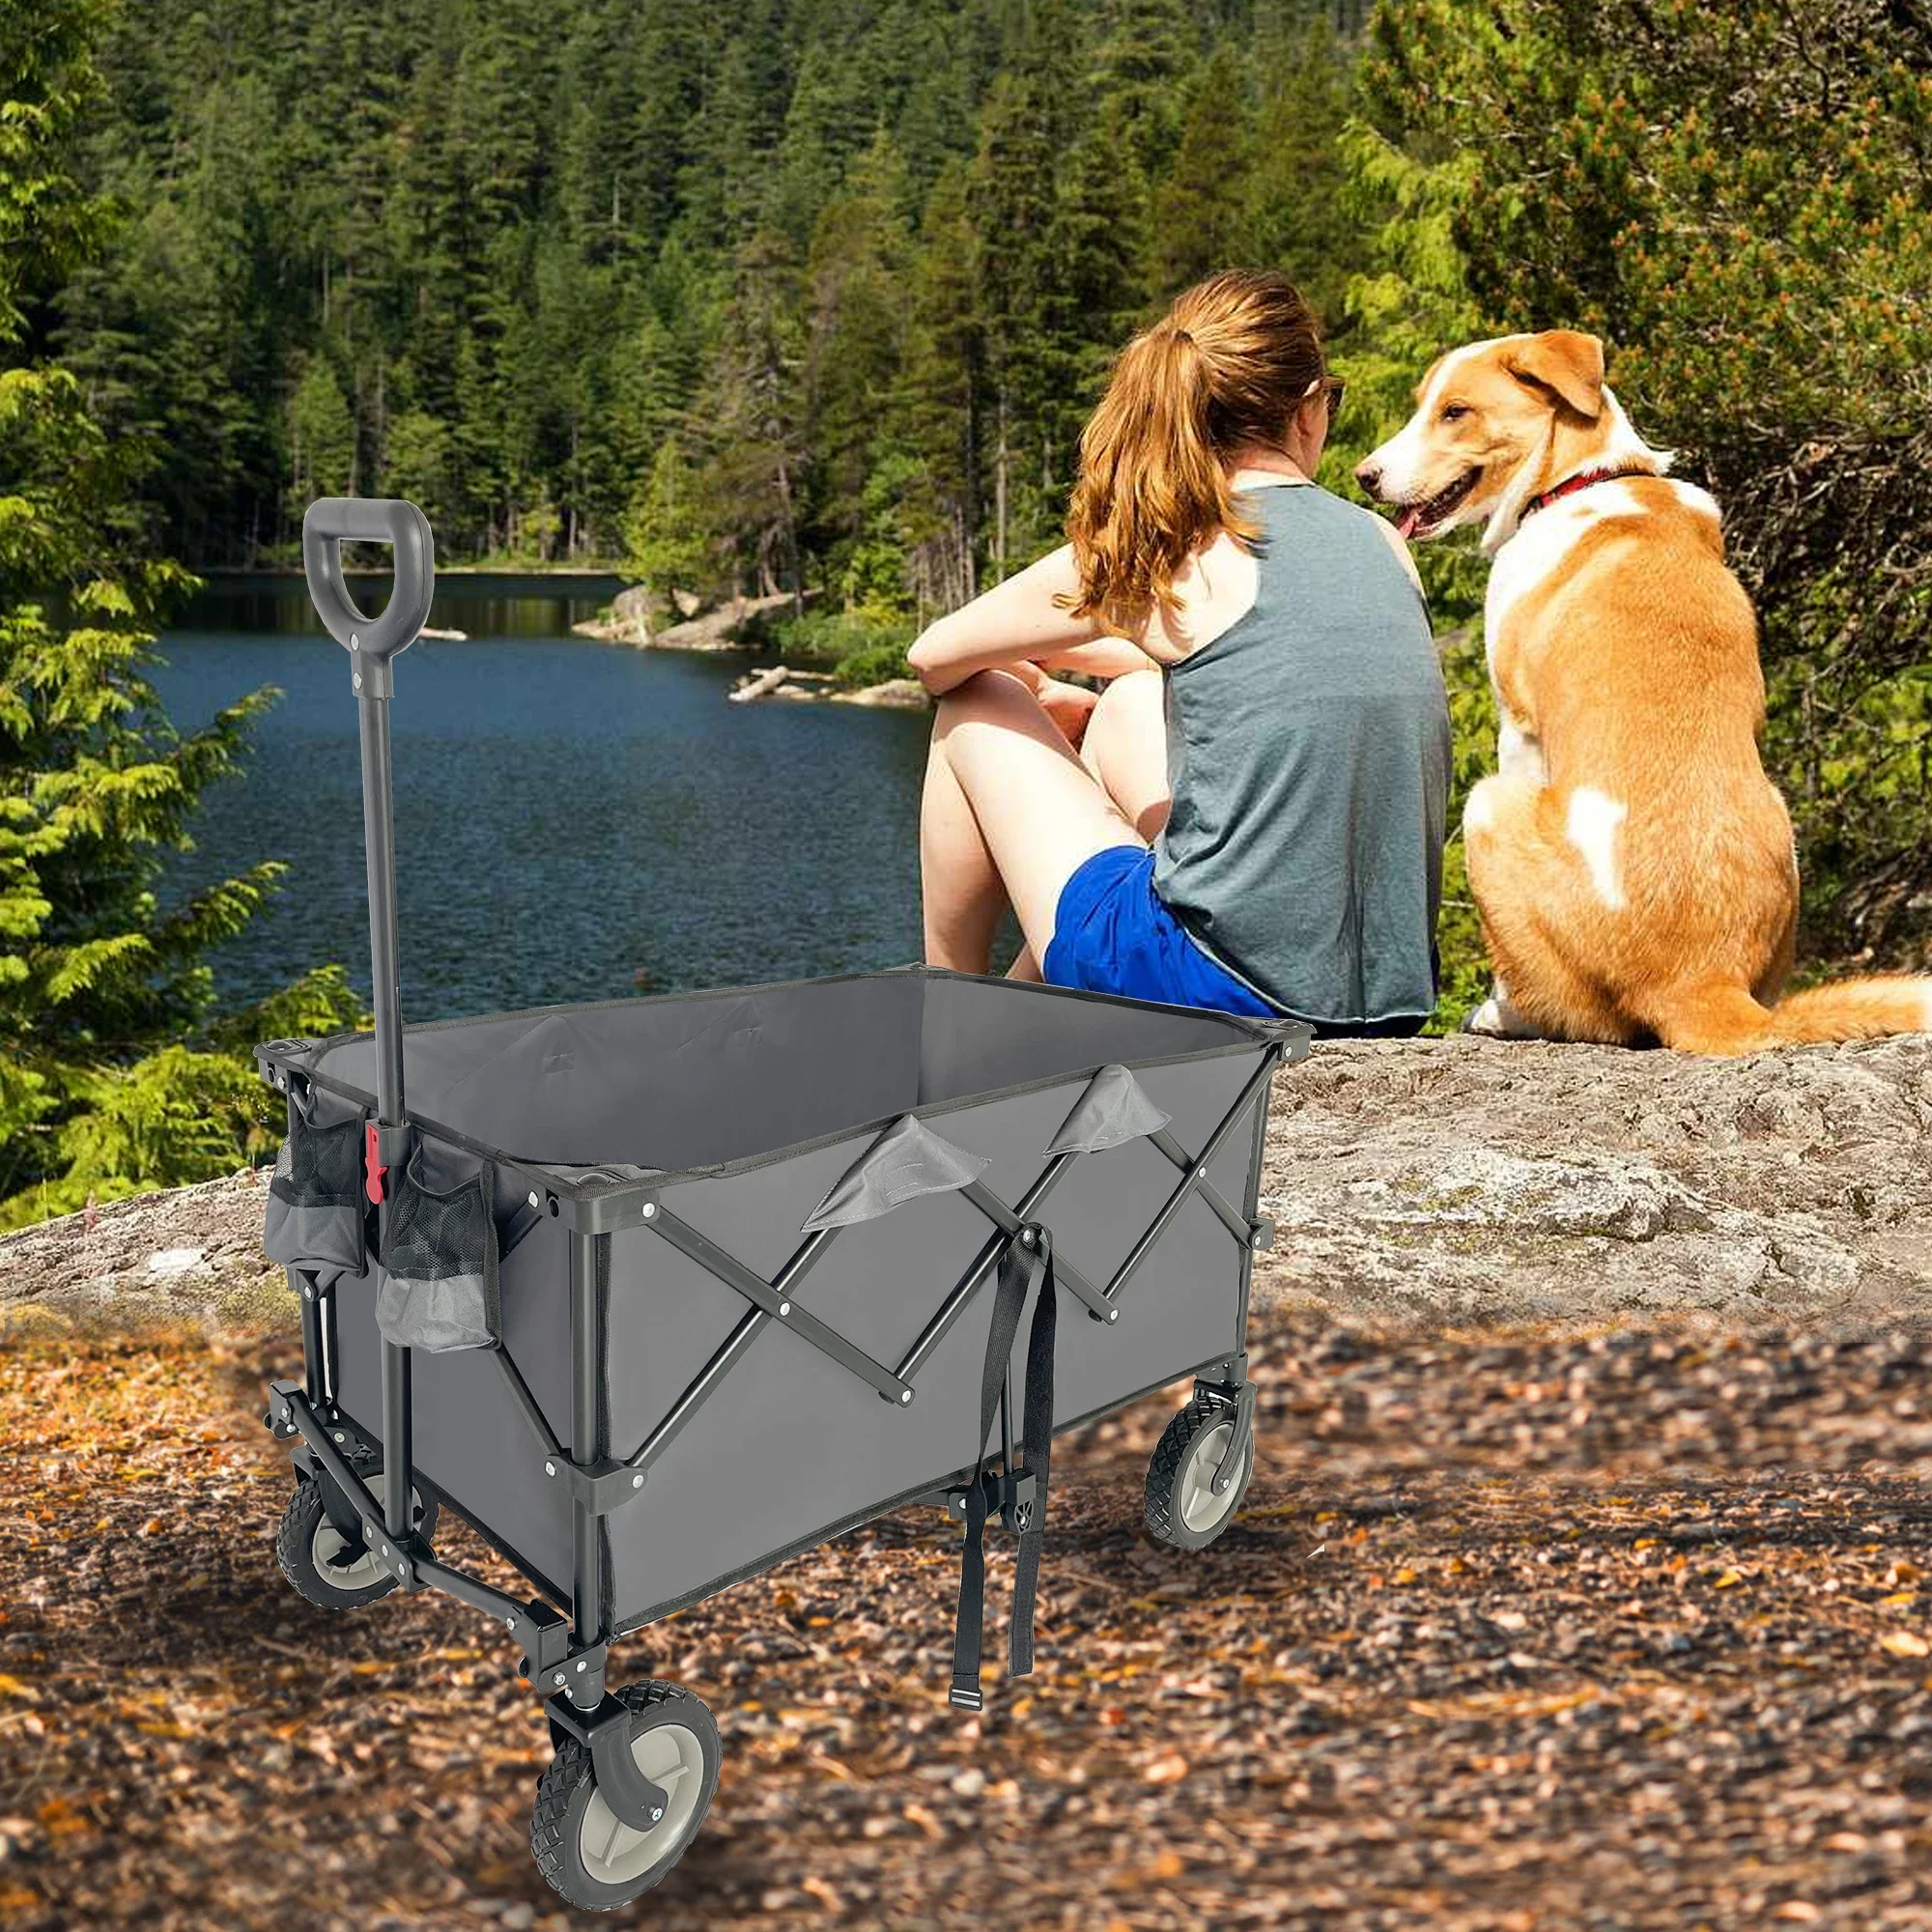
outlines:
[[[1339,398],[1279,274],[1217,274],[1121,354],[1072,541],[912,647],[929,964],[985,972],[1010,904],[1014,976],[1422,1026],[1449,713],[1405,545],[1312,481]]]

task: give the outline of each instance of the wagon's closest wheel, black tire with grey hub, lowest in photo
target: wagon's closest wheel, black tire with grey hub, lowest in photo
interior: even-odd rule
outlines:
[[[574,1737],[556,1747],[537,1779],[529,1849],[537,1870],[589,1913],[628,1905],[651,1889],[697,1835],[719,1787],[719,1727],[682,1685],[649,1679],[616,1692],[632,1710],[630,1754],[670,1799],[665,1822],[634,1832],[597,1795],[589,1750]]]

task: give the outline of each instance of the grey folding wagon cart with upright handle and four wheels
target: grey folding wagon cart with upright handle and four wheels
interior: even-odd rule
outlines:
[[[381,616],[344,541],[394,547]],[[678,1685],[612,1690],[614,1638],[925,1501],[964,1524],[951,1702],[978,1710],[985,1522],[1018,1536],[1022,1673],[1051,1437],[1186,1374],[1148,1526],[1227,1526],[1269,1074],[1308,1032],[923,968],[404,1028],[388,705],[429,524],[327,498],[301,549],[359,709],[375,1034],[257,1049],[305,1358],[270,1389],[276,1555],[325,1607],[502,1619],[556,1747],[537,1864],[622,1905],[703,1822],[719,1735]],[[439,1507],[535,1596],[442,1563]]]

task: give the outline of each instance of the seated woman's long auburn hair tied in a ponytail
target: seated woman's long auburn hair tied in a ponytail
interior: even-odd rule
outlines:
[[[1279,448],[1321,373],[1314,311],[1279,274],[1209,276],[1128,342],[1080,435],[1066,518],[1074,616],[1138,639],[1155,611],[1173,616],[1175,578],[1196,551],[1223,529],[1252,543],[1227,458]]]

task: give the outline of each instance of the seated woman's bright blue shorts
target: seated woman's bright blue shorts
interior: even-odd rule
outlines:
[[[1053,943],[1039,962],[1049,985],[1119,993],[1163,1007],[1206,1007],[1277,1018],[1277,1010],[1209,958],[1153,891],[1146,846],[1095,852],[1061,887]]]

